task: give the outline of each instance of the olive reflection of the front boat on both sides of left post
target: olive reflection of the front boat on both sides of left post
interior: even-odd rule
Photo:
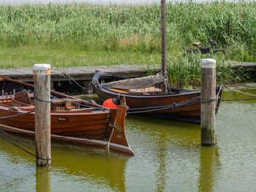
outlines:
[[[14,135],[17,139],[30,146],[34,139]],[[22,172],[35,172],[35,188],[37,191],[51,191],[51,186],[56,183],[56,176],[61,177],[64,183],[79,183],[86,186],[97,186],[104,191],[126,191],[125,170],[129,156],[108,150],[92,147],[70,145],[67,142],[52,141],[52,164],[48,167],[36,167],[34,156],[25,153],[0,137],[0,152],[13,167],[23,165]],[[15,173],[17,174],[17,173]],[[21,174],[21,172],[20,172]],[[54,175],[54,177],[51,177]],[[63,177],[65,175],[65,177]],[[15,175],[16,177],[16,175]],[[24,177],[23,174],[17,177]],[[58,179],[57,179],[58,180]],[[17,183],[21,185],[21,183]]]

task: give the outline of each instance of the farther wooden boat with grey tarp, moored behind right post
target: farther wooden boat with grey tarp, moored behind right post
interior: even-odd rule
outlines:
[[[125,96],[129,107],[127,113],[200,123],[200,91],[169,87],[167,93],[162,93],[161,83],[164,80],[162,74],[128,79],[96,72],[92,84],[94,92],[102,101],[118,95]],[[222,87],[217,87],[216,92],[217,112]]]

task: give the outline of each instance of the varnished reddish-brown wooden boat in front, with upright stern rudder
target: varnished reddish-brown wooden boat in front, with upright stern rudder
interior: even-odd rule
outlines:
[[[34,85],[0,76],[0,129],[34,136]],[[125,137],[125,99],[108,109],[51,91],[51,138],[134,155]]]

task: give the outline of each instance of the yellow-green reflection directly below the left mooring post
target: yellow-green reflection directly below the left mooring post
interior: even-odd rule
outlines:
[[[50,166],[37,166],[36,169],[37,192],[49,192],[50,187]]]

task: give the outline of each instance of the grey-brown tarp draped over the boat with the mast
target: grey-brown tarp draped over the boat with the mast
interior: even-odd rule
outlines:
[[[162,73],[148,77],[138,77],[127,80],[118,80],[105,83],[106,88],[118,88],[118,89],[138,89],[138,88],[150,88],[159,82],[164,82],[165,77]]]

